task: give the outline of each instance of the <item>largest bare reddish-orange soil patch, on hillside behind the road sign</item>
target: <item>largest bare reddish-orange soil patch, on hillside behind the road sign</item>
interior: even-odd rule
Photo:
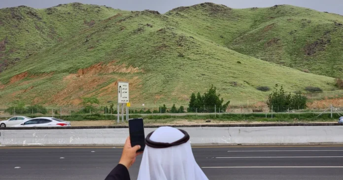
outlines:
[[[111,74],[112,72],[121,73],[135,73],[143,72],[138,68],[132,66],[126,67],[126,65],[115,65],[115,61],[105,65],[98,63],[89,68],[80,69],[76,74],[69,74],[65,76],[63,80],[67,83],[67,87],[57,93],[51,100],[51,103],[66,105],[73,104],[78,105],[82,102],[81,97],[97,96],[102,98],[113,99],[113,96],[117,92],[118,81],[130,82],[130,92],[137,89],[140,79],[138,76],[132,79],[125,79],[123,75],[118,77],[117,74]],[[117,79],[117,81],[98,89],[103,83],[108,82],[109,79]],[[130,93],[130,97],[135,97],[135,94]]]

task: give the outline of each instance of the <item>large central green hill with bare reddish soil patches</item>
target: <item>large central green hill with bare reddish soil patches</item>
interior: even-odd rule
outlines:
[[[186,26],[182,18],[141,11],[97,23],[1,72],[1,100],[77,104],[96,96],[115,102],[117,81],[129,81],[131,102],[147,106],[185,105],[192,92],[211,84],[226,100],[262,100],[269,93],[257,86],[333,88],[333,78],[240,54],[220,43],[220,34],[213,31],[211,40],[205,27]]]

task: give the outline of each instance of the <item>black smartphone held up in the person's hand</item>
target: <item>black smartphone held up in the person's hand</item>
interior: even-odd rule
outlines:
[[[140,145],[140,149],[137,152],[144,151],[145,135],[143,118],[129,119],[129,133],[131,146]]]

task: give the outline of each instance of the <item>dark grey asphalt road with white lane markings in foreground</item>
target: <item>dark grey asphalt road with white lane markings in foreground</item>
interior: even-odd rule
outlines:
[[[103,180],[121,148],[0,148],[0,180]],[[210,180],[342,180],[343,146],[193,148]],[[130,169],[137,179],[141,157]],[[20,167],[20,168],[18,168]]]

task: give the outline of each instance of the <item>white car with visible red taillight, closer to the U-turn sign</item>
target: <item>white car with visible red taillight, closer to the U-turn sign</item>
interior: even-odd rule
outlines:
[[[69,121],[55,117],[36,117],[12,127],[61,127],[71,126]]]

